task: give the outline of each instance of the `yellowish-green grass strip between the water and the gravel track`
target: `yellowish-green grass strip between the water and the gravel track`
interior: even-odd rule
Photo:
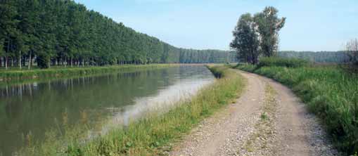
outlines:
[[[66,137],[70,139],[62,141],[50,137],[41,145],[24,150],[24,155],[161,155],[170,150],[170,143],[179,141],[198,122],[231,103],[243,91],[245,79],[240,74],[222,66],[209,68],[222,78],[164,114],[151,114],[129,126],[118,126],[87,143],[81,143],[77,134],[68,134],[72,135]]]

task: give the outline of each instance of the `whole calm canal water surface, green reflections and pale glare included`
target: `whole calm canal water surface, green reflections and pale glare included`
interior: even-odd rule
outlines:
[[[214,81],[203,66],[167,67],[0,88],[0,155],[11,155],[46,131],[87,124],[100,131],[188,98]],[[101,124],[103,125],[103,124]]]

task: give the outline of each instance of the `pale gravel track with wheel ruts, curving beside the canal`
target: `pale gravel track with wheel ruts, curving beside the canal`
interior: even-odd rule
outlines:
[[[236,103],[205,119],[170,155],[338,155],[290,89],[257,74]]]

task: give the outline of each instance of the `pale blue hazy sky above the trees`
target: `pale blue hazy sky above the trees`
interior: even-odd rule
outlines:
[[[229,50],[243,13],[265,6],[286,17],[281,51],[339,51],[358,37],[358,0],[75,0],[180,48]]]

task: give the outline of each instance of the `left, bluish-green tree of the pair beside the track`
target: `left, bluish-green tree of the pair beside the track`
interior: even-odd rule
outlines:
[[[238,60],[256,64],[260,55],[260,34],[250,13],[241,15],[233,34],[234,40],[230,47],[237,51]]]

